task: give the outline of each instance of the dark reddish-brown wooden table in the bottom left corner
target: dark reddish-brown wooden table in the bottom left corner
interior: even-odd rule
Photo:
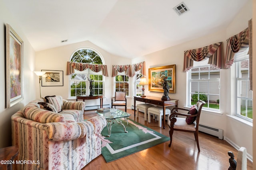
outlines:
[[[6,147],[0,149],[0,170],[12,170],[12,164],[16,164],[14,162],[14,158],[18,155],[19,149],[17,147]]]

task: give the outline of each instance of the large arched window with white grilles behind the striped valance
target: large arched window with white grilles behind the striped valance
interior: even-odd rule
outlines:
[[[104,60],[100,53],[88,47],[82,47],[74,51],[70,57],[70,61],[76,63],[104,64]],[[94,95],[103,94],[104,76],[102,76],[101,71],[93,72],[90,69],[84,71],[75,70],[75,73],[70,75],[70,98],[90,94],[90,82],[88,81],[88,78],[93,81],[92,89]]]

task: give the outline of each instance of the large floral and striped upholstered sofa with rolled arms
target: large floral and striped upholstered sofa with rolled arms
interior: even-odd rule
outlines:
[[[80,170],[101,154],[106,119],[84,121],[84,102],[46,96],[12,115],[12,145],[19,149],[16,169]],[[54,110],[55,109],[55,110]],[[50,111],[53,110],[53,111]]]

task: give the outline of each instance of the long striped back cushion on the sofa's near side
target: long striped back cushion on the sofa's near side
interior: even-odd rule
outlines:
[[[65,117],[62,114],[38,107],[25,107],[23,109],[23,115],[26,119],[40,123],[65,122]]]

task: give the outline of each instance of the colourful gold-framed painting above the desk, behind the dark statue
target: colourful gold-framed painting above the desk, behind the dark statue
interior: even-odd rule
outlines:
[[[148,68],[148,90],[152,92],[164,92],[163,82],[166,78],[170,87],[170,93],[176,93],[175,64],[168,66],[160,66]]]

